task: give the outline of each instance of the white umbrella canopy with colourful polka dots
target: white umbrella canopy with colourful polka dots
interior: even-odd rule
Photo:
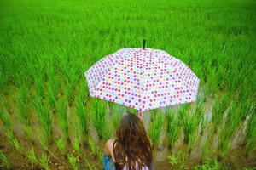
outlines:
[[[85,72],[90,95],[138,111],[196,100],[199,78],[165,51],[122,48]]]

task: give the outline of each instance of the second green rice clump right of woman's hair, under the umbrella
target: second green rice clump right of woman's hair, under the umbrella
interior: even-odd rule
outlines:
[[[181,126],[178,124],[178,118],[175,112],[168,108],[166,111],[166,122],[167,122],[167,137],[168,137],[168,147],[173,148],[175,141],[178,139],[181,131]]]

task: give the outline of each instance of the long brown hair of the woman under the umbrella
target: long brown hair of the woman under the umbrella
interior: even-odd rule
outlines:
[[[151,169],[152,148],[143,122],[134,114],[126,114],[117,131],[117,142],[113,154],[119,169],[125,165],[130,170]]]

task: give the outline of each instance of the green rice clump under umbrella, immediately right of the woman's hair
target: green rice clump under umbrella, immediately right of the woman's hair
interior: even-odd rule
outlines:
[[[163,129],[163,113],[154,110],[151,111],[151,120],[148,129],[148,136],[152,141],[153,148],[157,145],[160,139],[160,133]]]

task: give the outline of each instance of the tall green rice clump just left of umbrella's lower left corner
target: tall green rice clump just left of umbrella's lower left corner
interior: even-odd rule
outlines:
[[[89,123],[89,113],[88,111],[85,111],[84,107],[84,95],[79,93],[79,96],[75,99],[75,105],[76,105],[76,113],[79,117],[79,124],[81,127],[81,133],[82,138],[88,135],[88,123]],[[83,138],[84,139],[84,138]]]

